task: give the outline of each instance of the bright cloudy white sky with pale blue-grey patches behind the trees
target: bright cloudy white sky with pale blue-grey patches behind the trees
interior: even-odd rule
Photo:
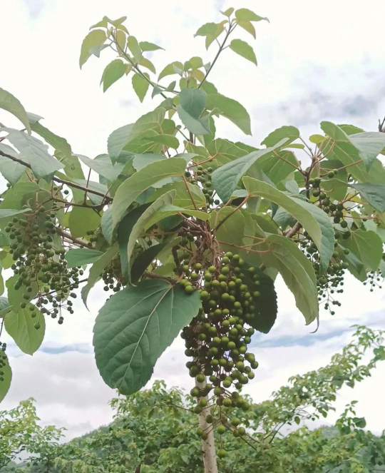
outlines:
[[[244,31],[237,36],[254,47],[257,68],[227,50],[212,71],[210,81],[244,104],[252,117],[252,136],[242,136],[225,119],[217,125],[218,136],[259,146],[282,125],[299,127],[307,138],[319,132],[322,120],[376,131],[385,114],[385,4],[380,0],[366,0],[364,6],[357,0],[0,0],[0,87],[19,98],[27,111],[43,116],[42,123],[64,136],[74,152],[93,158],[106,152],[113,130],[133,123],[158,101],[148,96],[140,105],[130,78],[103,94],[99,81],[108,63],[103,54],[79,69],[81,41],[89,26],[104,15],[128,16],[128,30],[139,41],[165,48],[151,54],[160,72],[165,64],[191,56],[212,61],[215,44],[205,51],[204,40],[193,34],[203,23],[221,21],[219,10],[230,6],[250,8],[270,24],[256,24],[256,41]],[[19,126],[2,111],[0,122]],[[4,180],[0,184],[4,189]],[[290,376],[326,364],[349,342],[351,325],[384,328],[384,290],[369,293],[354,278],[347,278],[345,287],[342,307],[333,317],[321,312],[319,330],[312,334],[316,327],[304,325],[294,297],[277,280],[277,323],[270,334],[253,340],[260,368],[246,392],[256,402]],[[32,357],[7,340],[14,378],[1,409],[34,397],[41,422],[66,427],[67,439],[110,422],[113,415],[108,401],[116,392],[98,374],[91,343],[103,291],[94,288],[88,300],[89,311],[76,302],[75,314],[61,326],[47,320],[46,338]],[[182,340],[175,340],[155,366],[154,377],[190,390],[185,361]],[[366,417],[373,432],[381,432],[384,380],[385,363],[354,390],[339,392],[337,414],[347,402],[359,400],[359,416]],[[337,414],[323,423],[333,422]]]

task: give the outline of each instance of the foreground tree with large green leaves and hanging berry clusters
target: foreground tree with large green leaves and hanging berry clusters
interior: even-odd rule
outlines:
[[[377,157],[384,133],[323,121],[323,134],[309,141],[294,126],[270,133],[262,148],[218,138],[218,118],[250,135],[250,116],[207,79],[227,48],[256,64],[249,44],[228,41],[239,27],[255,36],[255,22],[266,20],[248,9],[222,14],[195,34],[207,49],[220,44],[212,62],[175,61],[158,82],[146,55],[160,46],[128,34],[125,17],[91,26],[80,66],[112,49],[118,57],[103,72],[103,90],[130,74],[140,100],[151,87],[158,101],[113,131],[108,154],[93,160],[73,153],[0,89],[0,107],[24,125],[2,128],[0,138],[0,171],[9,183],[0,204],[1,265],[14,270],[1,329],[31,354],[46,318],[63,323],[81,285],[86,303],[103,279],[113,295],[94,327],[96,364],[125,395],[150,380],[182,330],[205,473],[217,472],[214,428],[243,435],[238,418],[224,412],[248,407],[239,391],[258,362],[247,345],[255,330],[274,325],[277,274],[309,324],[319,320],[320,304],[334,313],[347,271],[372,290],[385,268],[385,170]],[[168,76],[180,77],[179,88],[160,83]],[[0,400],[11,382],[2,347]],[[212,405],[215,419],[207,414]]]

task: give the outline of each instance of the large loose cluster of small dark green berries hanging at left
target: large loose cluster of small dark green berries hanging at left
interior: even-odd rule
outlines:
[[[73,302],[69,297],[76,297],[72,291],[79,287],[79,275],[83,275],[83,270],[67,268],[66,251],[54,238],[57,210],[56,203],[51,209],[39,205],[32,213],[14,217],[5,232],[11,241],[9,253],[14,259],[11,269],[18,276],[14,290],[23,291],[21,309],[28,305],[31,317],[36,317],[35,306],[29,302],[37,299],[36,307],[52,318],[59,316],[58,323],[62,324],[61,311],[66,309],[73,313]],[[35,328],[39,329],[39,322]]]

